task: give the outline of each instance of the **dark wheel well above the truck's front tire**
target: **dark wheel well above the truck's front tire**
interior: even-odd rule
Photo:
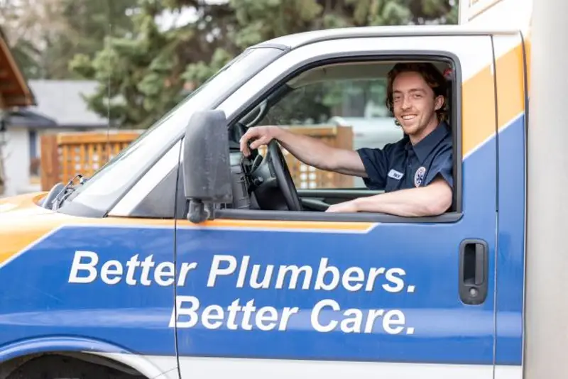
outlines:
[[[49,373],[55,368],[57,370],[65,368],[66,373],[72,370],[84,370],[92,374],[92,378],[99,378],[100,373],[105,372],[105,378],[148,379],[138,370],[124,363],[104,356],[74,351],[31,354],[2,362],[0,363],[0,379],[27,378],[29,372]]]

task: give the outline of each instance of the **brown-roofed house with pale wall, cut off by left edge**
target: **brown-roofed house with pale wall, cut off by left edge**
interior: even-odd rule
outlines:
[[[26,78],[16,64],[6,42],[6,36],[0,28],[0,197],[13,192],[9,180],[12,167],[6,165],[6,115],[12,109],[36,104],[33,92],[26,83]],[[17,175],[16,175],[17,176]]]

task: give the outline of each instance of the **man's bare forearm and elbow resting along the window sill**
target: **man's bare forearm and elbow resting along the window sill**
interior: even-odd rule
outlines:
[[[443,177],[418,188],[360,197],[349,202],[334,204],[327,212],[379,212],[396,216],[437,216],[452,205],[452,188]]]

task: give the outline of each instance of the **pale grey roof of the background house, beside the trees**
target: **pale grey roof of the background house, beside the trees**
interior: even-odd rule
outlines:
[[[82,98],[82,94],[93,94],[97,84],[90,80],[30,80],[38,104],[28,109],[55,120],[58,126],[107,126],[107,118],[88,109],[87,102]]]

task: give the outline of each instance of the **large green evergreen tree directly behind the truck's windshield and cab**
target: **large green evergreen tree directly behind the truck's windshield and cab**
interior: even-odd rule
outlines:
[[[194,10],[192,20],[160,30],[160,14],[184,7]],[[124,127],[146,128],[263,40],[322,28],[450,23],[456,16],[449,0],[140,0],[133,34],[107,38],[94,58],[77,55],[72,70],[100,82],[99,92],[86,99],[94,111],[109,112]],[[329,97],[317,98],[333,106]]]

